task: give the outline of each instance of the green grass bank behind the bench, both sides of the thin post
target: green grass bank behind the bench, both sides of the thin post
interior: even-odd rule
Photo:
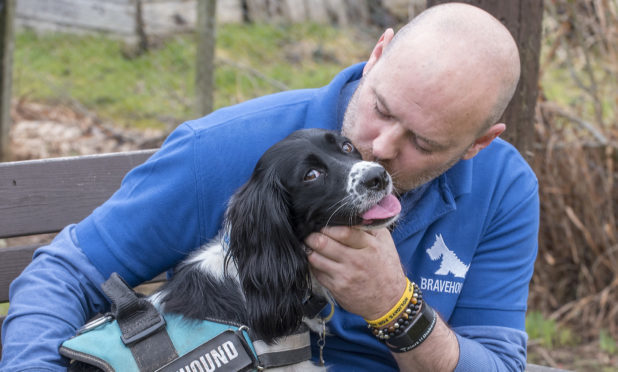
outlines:
[[[16,36],[13,95],[44,102],[77,101],[124,126],[161,127],[194,117],[195,43],[170,38],[136,58],[103,36]],[[370,45],[351,30],[315,24],[222,25],[217,29],[214,106],[281,90],[322,86]],[[264,78],[264,76],[268,78]]]

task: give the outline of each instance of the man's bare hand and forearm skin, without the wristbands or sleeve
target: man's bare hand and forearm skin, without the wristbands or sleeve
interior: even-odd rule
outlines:
[[[309,255],[313,274],[346,310],[365,319],[378,319],[399,301],[406,279],[387,229],[366,232],[329,227],[310,235],[306,243],[313,249]],[[438,318],[421,345],[393,355],[402,371],[453,371],[459,360],[459,344],[453,331]]]

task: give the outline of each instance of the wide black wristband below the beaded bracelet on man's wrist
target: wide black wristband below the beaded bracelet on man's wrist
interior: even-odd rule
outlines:
[[[429,337],[437,320],[436,312],[423,301],[418,317],[401,334],[385,340],[386,346],[395,353],[414,349]]]

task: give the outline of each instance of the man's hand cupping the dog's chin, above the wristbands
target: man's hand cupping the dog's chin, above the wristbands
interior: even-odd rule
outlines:
[[[346,310],[377,319],[399,301],[406,287],[399,254],[386,229],[326,227],[307,237],[316,279]]]

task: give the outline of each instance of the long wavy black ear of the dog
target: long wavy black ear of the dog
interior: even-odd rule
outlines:
[[[309,269],[275,169],[253,174],[232,198],[226,220],[227,259],[238,268],[249,327],[265,341],[294,331],[302,321]]]

